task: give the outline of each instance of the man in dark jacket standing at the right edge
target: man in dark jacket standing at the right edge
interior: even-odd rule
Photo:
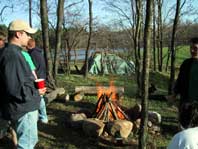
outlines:
[[[174,101],[180,95],[179,121],[183,128],[187,127],[188,104],[198,101],[198,38],[190,40],[190,53],[191,58],[186,59],[180,66],[174,94],[169,97],[169,101]]]

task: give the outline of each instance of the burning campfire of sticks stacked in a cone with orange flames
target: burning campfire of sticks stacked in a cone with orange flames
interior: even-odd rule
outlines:
[[[98,102],[94,111],[94,117],[105,122],[113,120],[129,120],[128,116],[119,106],[119,96],[113,82],[110,82],[110,87],[104,89],[97,88]]]

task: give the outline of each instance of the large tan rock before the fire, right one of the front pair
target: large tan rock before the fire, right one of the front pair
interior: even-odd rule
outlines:
[[[114,120],[107,124],[107,132],[114,137],[117,137],[117,134],[121,138],[127,138],[131,133],[133,128],[133,123],[127,120]]]

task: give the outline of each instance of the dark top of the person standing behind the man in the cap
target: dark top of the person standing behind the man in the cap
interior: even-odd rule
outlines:
[[[46,79],[45,59],[41,49],[33,48],[28,50],[34,65],[36,66],[36,74],[38,78]]]

